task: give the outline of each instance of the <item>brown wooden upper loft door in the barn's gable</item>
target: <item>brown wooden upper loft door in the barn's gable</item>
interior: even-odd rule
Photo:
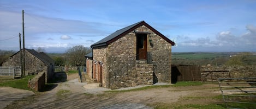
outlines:
[[[147,34],[136,34],[136,59],[147,60]]]

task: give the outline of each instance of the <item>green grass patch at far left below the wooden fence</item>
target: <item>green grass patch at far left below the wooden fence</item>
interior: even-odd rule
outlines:
[[[21,79],[7,79],[6,81],[3,81],[0,83],[0,87],[13,87],[13,88],[20,88],[20,89],[27,89],[31,90],[28,88],[28,79],[34,78],[35,75],[28,75],[25,76],[25,78]]]

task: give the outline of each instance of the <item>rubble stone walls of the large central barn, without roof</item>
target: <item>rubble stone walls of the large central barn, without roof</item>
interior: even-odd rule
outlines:
[[[103,87],[148,85],[153,84],[154,80],[171,82],[171,44],[145,25],[136,28],[135,31],[148,33],[147,53],[150,57],[147,60],[150,59],[152,62],[136,62],[136,33],[134,31],[108,46],[93,48],[93,60],[87,60],[87,64],[89,63],[87,74],[99,82],[99,67],[102,67]]]

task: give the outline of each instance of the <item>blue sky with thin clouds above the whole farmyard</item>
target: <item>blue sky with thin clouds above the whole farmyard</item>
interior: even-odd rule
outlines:
[[[63,53],[139,21],[176,43],[172,52],[256,52],[254,0],[0,0],[0,50]],[[21,36],[22,37],[22,36]]]

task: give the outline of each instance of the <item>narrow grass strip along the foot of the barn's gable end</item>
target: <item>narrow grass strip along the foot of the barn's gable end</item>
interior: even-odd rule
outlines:
[[[174,85],[156,85],[156,86],[152,85],[152,86],[145,86],[145,87],[140,87],[140,88],[122,90],[122,91],[114,90],[114,91],[105,91],[105,92],[119,93],[119,92],[142,91],[142,90],[151,89],[151,88],[167,88],[167,87],[199,86],[199,85],[203,85],[203,83],[200,81],[180,81]]]

